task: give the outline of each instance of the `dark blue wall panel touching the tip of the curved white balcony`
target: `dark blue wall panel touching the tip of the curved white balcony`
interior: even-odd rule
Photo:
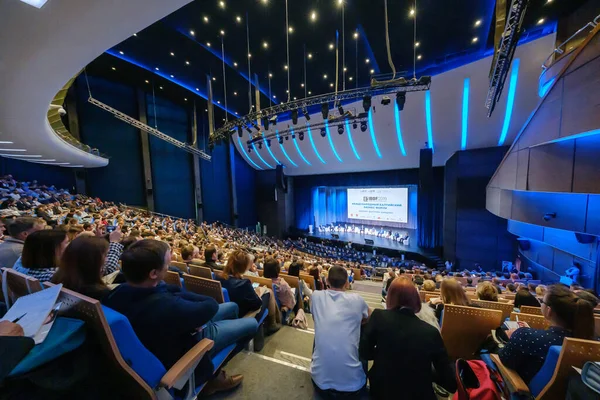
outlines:
[[[138,118],[135,89],[100,78],[89,78],[94,98]],[[84,143],[98,148],[110,161],[87,170],[88,194],[102,200],[146,206],[139,131],[87,102],[85,80],[77,80],[77,110]]]

